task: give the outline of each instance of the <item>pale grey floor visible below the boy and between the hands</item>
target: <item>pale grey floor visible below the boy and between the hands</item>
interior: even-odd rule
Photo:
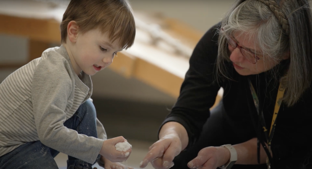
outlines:
[[[153,144],[153,142],[139,141],[139,140],[129,140],[128,142],[132,145],[132,153],[126,162],[123,162],[125,166],[134,167],[139,169],[139,163],[145,157],[148,152],[149,146]],[[60,153],[55,158],[56,164],[60,169],[66,169],[66,160],[67,155]],[[95,164],[93,167],[97,167],[98,169],[103,169],[98,164]],[[146,167],[146,169],[153,169],[152,165]]]

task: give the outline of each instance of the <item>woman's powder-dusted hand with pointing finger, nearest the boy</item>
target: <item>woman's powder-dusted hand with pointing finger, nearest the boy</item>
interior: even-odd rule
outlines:
[[[173,167],[173,158],[182,150],[178,134],[167,134],[149,147],[149,152],[140,163],[140,168],[152,163],[155,169],[168,169]]]

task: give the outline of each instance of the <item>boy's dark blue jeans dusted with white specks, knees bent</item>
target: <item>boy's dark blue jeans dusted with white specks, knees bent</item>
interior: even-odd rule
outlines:
[[[65,121],[64,126],[97,138],[96,112],[90,100],[85,101],[76,113]],[[58,169],[54,157],[59,152],[43,145],[40,141],[22,144],[10,153],[0,157],[0,169]],[[98,162],[100,155],[96,158]],[[93,164],[68,156],[67,169],[90,169]]]

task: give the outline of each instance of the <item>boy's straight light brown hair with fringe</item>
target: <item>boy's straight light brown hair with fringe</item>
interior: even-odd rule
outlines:
[[[67,25],[76,21],[79,33],[99,28],[123,49],[133,45],[135,23],[128,0],[71,0],[61,22],[61,43],[66,43]]]

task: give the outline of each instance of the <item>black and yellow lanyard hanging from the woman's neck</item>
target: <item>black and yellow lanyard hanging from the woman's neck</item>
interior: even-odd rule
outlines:
[[[256,106],[256,110],[258,113],[258,122],[261,122],[261,125],[258,125],[258,130],[260,131],[260,134],[257,136],[258,137],[258,141],[257,141],[257,154],[258,154],[258,163],[260,163],[260,143],[262,144],[263,148],[266,151],[266,154],[268,156],[268,158],[266,159],[266,164],[268,166],[268,168],[271,168],[271,164],[273,162],[272,156],[271,156],[271,141],[273,138],[273,134],[274,134],[274,129],[276,126],[276,118],[278,115],[278,111],[280,110],[280,105],[282,103],[282,99],[285,93],[285,89],[283,88],[283,86],[280,83],[280,86],[278,88],[278,92],[277,92],[277,96],[276,96],[276,102],[275,102],[275,108],[274,108],[274,114],[273,114],[273,118],[272,118],[272,123],[271,123],[271,129],[270,129],[270,133],[268,134],[268,130],[266,129],[266,122],[264,120],[264,116],[263,116],[263,112],[261,111],[261,114],[259,113],[259,99],[258,96],[256,94],[255,88],[252,86],[251,81],[249,80],[249,87],[251,90],[251,95],[252,98],[254,100],[255,106]],[[267,144],[268,147],[266,147],[266,144],[263,143],[262,139],[261,139],[261,131],[263,130],[266,140],[267,140]]]

